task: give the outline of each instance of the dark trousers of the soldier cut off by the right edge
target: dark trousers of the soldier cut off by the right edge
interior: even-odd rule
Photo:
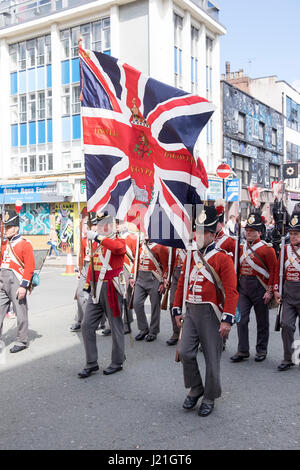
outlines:
[[[300,321],[300,282],[285,281],[283,288],[283,307],[281,319],[281,337],[283,342],[284,362],[292,362],[296,321]]]

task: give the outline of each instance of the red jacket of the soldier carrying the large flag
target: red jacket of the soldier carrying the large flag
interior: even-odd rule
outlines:
[[[122,238],[104,238],[104,240],[101,241],[100,245],[97,245],[98,248],[94,252],[93,256],[95,282],[98,281],[100,270],[105,261],[107,250],[110,250],[111,252],[109,255],[107,271],[123,268],[124,257],[126,254],[126,243],[125,240],[123,240]],[[92,279],[92,267],[90,264],[84,289],[88,288]]]

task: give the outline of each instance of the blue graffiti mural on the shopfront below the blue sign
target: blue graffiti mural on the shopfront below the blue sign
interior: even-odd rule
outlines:
[[[20,233],[23,235],[46,235],[49,230],[49,204],[23,204],[20,212]]]

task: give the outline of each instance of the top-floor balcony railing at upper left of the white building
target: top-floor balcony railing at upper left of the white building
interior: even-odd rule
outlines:
[[[93,1],[95,0],[2,0],[0,1],[0,28],[35,20]]]

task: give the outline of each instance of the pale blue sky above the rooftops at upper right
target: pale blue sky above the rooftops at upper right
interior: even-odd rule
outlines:
[[[216,0],[221,73],[243,69],[251,78],[277,75],[300,91],[300,0]]]

